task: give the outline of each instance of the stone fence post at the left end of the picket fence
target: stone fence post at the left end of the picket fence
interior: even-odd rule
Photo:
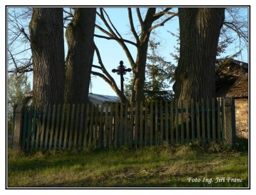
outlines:
[[[17,106],[15,111],[15,126],[13,131],[13,150],[20,150],[22,142],[22,119],[23,119],[23,106]]]

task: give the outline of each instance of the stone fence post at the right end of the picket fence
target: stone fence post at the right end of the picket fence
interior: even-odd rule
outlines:
[[[224,99],[224,138],[228,146],[233,145],[234,142],[234,131],[236,131],[234,126],[234,107],[232,98]]]

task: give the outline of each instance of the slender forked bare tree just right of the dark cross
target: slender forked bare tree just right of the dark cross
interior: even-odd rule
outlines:
[[[164,24],[173,19],[173,17],[177,16],[177,13],[171,12],[171,8],[163,9],[160,12],[156,12],[156,8],[148,8],[146,10],[146,15],[144,19],[142,19],[141,11],[139,8],[136,8],[136,14],[139,20],[139,24],[141,26],[141,31],[137,32],[134,27],[134,19],[132,16],[132,9],[128,8],[128,18],[129,18],[129,25],[132,35],[134,36],[135,41],[130,41],[128,39],[122,38],[120,32],[118,32],[117,28],[113,25],[110,20],[110,17],[107,15],[107,12],[100,8],[100,12],[97,12],[97,15],[103,21],[104,25],[107,27],[105,30],[103,27],[96,24],[96,28],[98,28],[101,32],[106,34],[107,36],[103,35],[94,35],[95,37],[99,38],[106,38],[106,39],[114,39],[121,45],[122,49],[124,50],[129,63],[132,68],[133,72],[133,83],[132,83],[132,102],[140,102],[141,100],[145,99],[144,93],[144,85],[145,85],[145,69],[146,69],[146,58],[148,53],[148,44],[150,33],[152,30],[159,26],[164,26]],[[159,21],[159,19],[164,16],[168,15],[166,19]],[[106,19],[106,17],[107,19]],[[154,22],[159,21],[157,24],[153,24]],[[128,47],[126,44],[131,44],[136,47],[137,55],[136,60],[133,59]],[[94,74],[94,73],[92,73]],[[103,75],[102,78],[104,79]]]

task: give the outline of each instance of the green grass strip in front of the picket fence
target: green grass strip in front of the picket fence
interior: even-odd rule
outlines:
[[[247,148],[237,148],[194,142],[137,150],[8,150],[8,187],[248,187]],[[201,182],[188,182],[190,177]],[[218,177],[243,182],[215,183]]]

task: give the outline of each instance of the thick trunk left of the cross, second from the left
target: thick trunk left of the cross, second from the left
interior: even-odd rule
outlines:
[[[75,15],[66,27],[66,103],[87,102],[94,53],[95,18],[96,8],[75,8]]]

